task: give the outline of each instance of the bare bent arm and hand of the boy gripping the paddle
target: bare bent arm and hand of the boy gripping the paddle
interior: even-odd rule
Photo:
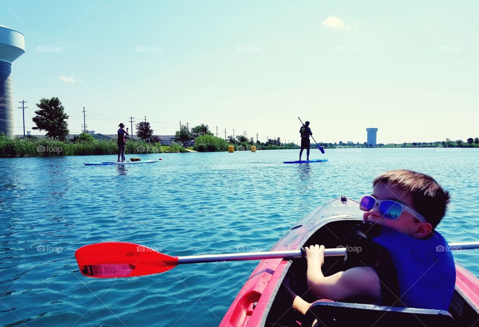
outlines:
[[[381,285],[374,269],[354,267],[324,277],[321,271],[324,264],[324,246],[311,246],[305,250],[308,261],[307,282],[311,294],[333,301],[342,301],[355,296],[380,300]]]

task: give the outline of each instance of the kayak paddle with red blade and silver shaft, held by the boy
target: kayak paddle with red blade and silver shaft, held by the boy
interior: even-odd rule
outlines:
[[[479,242],[451,243],[445,251],[478,249]],[[325,249],[324,256],[344,256],[346,249]],[[440,251],[440,250],[438,250]],[[159,274],[181,264],[304,257],[303,250],[266,251],[171,257],[134,243],[86,245],[75,252],[80,272],[87,277],[116,278]]]

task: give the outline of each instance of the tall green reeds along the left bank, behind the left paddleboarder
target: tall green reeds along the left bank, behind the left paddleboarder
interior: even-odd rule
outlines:
[[[19,139],[0,135],[0,157],[51,157],[117,154],[116,140],[62,142],[49,138]],[[161,153],[161,146],[127,140],[125,154]]]

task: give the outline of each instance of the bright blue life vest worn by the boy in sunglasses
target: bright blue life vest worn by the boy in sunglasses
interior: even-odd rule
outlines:
[[[373,242],[390,254],[401,302],[410,308],[448,310],[456,284],[456,266],[447,241],[436,231],[416,239],[382,227]],[[401,306],[400,301],[395,306]]]

